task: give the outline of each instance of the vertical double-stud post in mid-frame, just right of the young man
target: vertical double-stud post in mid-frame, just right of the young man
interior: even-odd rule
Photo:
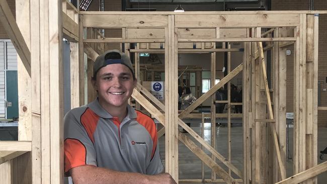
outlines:
[[[166,106],[166,171],[178,182],[178,45],[177,31],[175,30],[175,17],[168,17],[168,28],[165,40],[165,95]]]

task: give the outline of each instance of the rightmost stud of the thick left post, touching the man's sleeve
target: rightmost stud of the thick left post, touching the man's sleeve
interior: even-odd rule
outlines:
[[[63,64],[61,3],[49,1],[50,183],[63,183]],[[48,182],[42,180],[42,182]],[[48,182],[49,183],[49,182]]]

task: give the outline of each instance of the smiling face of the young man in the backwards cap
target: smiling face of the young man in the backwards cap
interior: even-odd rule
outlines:
[[[99,103],[106,110],[126,108],[135,84],[131,70],[123,64],[102,67],[93,81],[98,91]]]

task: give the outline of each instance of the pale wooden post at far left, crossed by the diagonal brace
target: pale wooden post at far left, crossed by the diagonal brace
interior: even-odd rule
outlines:
[[[27,47],[30,49],[30,1],[16,0],[16,22],[24,37]],[[18,97],[19,97],[19,124],[18,140],[32,140],[32,84],[21,58],[17,57],[18,63]],[[14,178],[20,183],[32,183],[32,154],[31,152],[13,160]]]

